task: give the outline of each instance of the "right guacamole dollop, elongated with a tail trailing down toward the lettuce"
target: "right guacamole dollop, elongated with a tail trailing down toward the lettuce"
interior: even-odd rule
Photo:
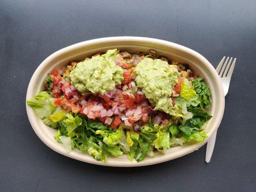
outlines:
[[[171,68],[168,62],[144,58],[135,68],[136,83],[142,88],[146,98],[155,110],[161,110],[170,115],[177,114],[177,105],[172,106],[170,98],[172,87],[178,83],[179,72]]]

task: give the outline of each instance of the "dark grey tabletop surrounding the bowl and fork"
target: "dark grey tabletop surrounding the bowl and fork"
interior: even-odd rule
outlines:
[[[71,44],[146,36],[192,48],[216,67],[236,57],[209,164],[206,146],[141,168],[108,168],[62,156],[33,131],[25,94],[37,66]],[[0,192],[256,191],[256,1],[0,0]]]

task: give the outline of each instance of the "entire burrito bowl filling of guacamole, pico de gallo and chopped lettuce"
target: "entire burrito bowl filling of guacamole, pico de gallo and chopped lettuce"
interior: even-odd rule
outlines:
[[[142,161],[154,150],[207,138],[211,93],[189,66],[157,56],[110,49],[46,74],[46,89],[27,101],[55,139],[96,160],[128,154]]]

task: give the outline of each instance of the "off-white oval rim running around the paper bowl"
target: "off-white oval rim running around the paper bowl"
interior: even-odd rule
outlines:
[[[28,84],[28,88],[27,88],[27,93],[26,93],[26,101],[31,99],[32,96],[32,91],[34,89],[34,85],[35,82],[34,80],[37,78],[37,76],[39,75],[39,73],[44,69],[45,65],[47,65],[49,63],[50,60],[56,58],[57,56],[60,56],[61,54],[76,49],[76,48],[81,48],[81,47],[86,47],[89,45],[93,45],[93,44],[97,44],[97,43],[110,43],[110,42],[120,42],[120,41],[135,41],[135,42],[145,42],[145,43],[154,43],[154,44],[158,44],[158,45],[164,45],[167,47],[172,47],[172,48],[177,48],[180,49],[184,52],[189,53],[190,55],[194,56],[195,58],[197,58],[198,60],[200,60],[202,63],[204,63],[208,70],[210,70],[210,72],[212,73],[214,80],[216,81],[217,87],[215,87],[218,91],[219,91],[219,95],[220,95],[220,102],[219,102],[219,106],[221,108],[219,108],[218,111],[218,116],[216,119],[216,123],[214,123],[214,126],[211,129],[215,129],[215,131],[217,131],[220,121],[223,117],[223,113],[224,113],[224,106],[225,106],[225,99],[224,99],[224,92],[223,92],[223,87],[222,84],[220,82],[219,79],[219,75],[216,72],[216,70],[214,69],[214,67],[210,64],[210,62],[204,57],[202,56],[200,53],[196,52],[195,50],[192,50],[190,48],[184,47],[180,44],[176,44],[173,42],[169,42],[166,40],[161,40],[161,39],[156,39],[156,38],[150,38],[150,37],[139,37],[139,36],[113,36],[113,37],[103,37],[103,38],[97,38],[97,39],[91,39],[91,40],[87,40],[87,41],[83,41],[80,43],[76,43],[73,44],[71,46],[65,47],[65,48],[61,48],[60,50],[52,53],[49,57],[47,57],[45,60],[43,60],[40,65],[37,67],[36,71],[33,73],[31,80]],[[87,163],[91,163],[91,164],[97,164],[97,165],[102,165],[102,166],[111,166],[111,167],[138,167],[138,166],[148,166],[148,165],[153,165],[153,164],[158,164],[158,163],[162,163],[165,161],[169,161],[175,158],[178,158],[180,156],[184,156],[187,155],[189,153],[192,153],[195,150],[198,150],[198,148],[200,148],[201,146],[203,146],[204,144],[207,143],[207,141],[211,138],[211,136],[213,135],[212,132],[210,135],[208,135],[208,138],[205,139],[203,142],[197,143],[197,144],[193,144],[192,146],[188,147],[186,150],[183,149],[183,153],[180,153],[178,156],[175,157],[168,157],[167,154],[165,154],[163,156],[163,158],[161,158],[160,160],[158,159],[154,159],[154,158],[150,158],[150,160],[148,162],[145,161],[141,161],[140,163],[137,163],[136,161],[133,162],[129,162],[129,163],[117,163],[115,162],[111,162],[110,160],[108,160],[107,162],[101,162],[101,161],[96,161],[95,159],[93,159],[90,156],[89,158],[82,158],[81,156],[78,156],[77,154],[74,153],[70,153],[67,154],[65,151],[63,151],[63,149],[60,149],[60,147],[57,145],[58,143],[55,142],[56,144],[53,144],[52,142],[50,142],[48,140],[48,138],[46,137],[46,135],[43,135],[42,132],[40,132],[39,130],[39,126],[37,126],[37,123],[35,121],[35,116],[32,117],[32,111],[31,108],[26,105],[26,111],[27,111],[27,116],[28,119],[30,121],[30,124],[32,126],[32,128],[34,129],[34,131],[36,132],[37,136],[43,141],[43,143],[45,143],[47,146],[49,146],[52,150],[64,155],[64,156],[69,156],[73,159],[77,159],[80,161],[84,161]],[[37,117],[39,118],[39,117]]]

